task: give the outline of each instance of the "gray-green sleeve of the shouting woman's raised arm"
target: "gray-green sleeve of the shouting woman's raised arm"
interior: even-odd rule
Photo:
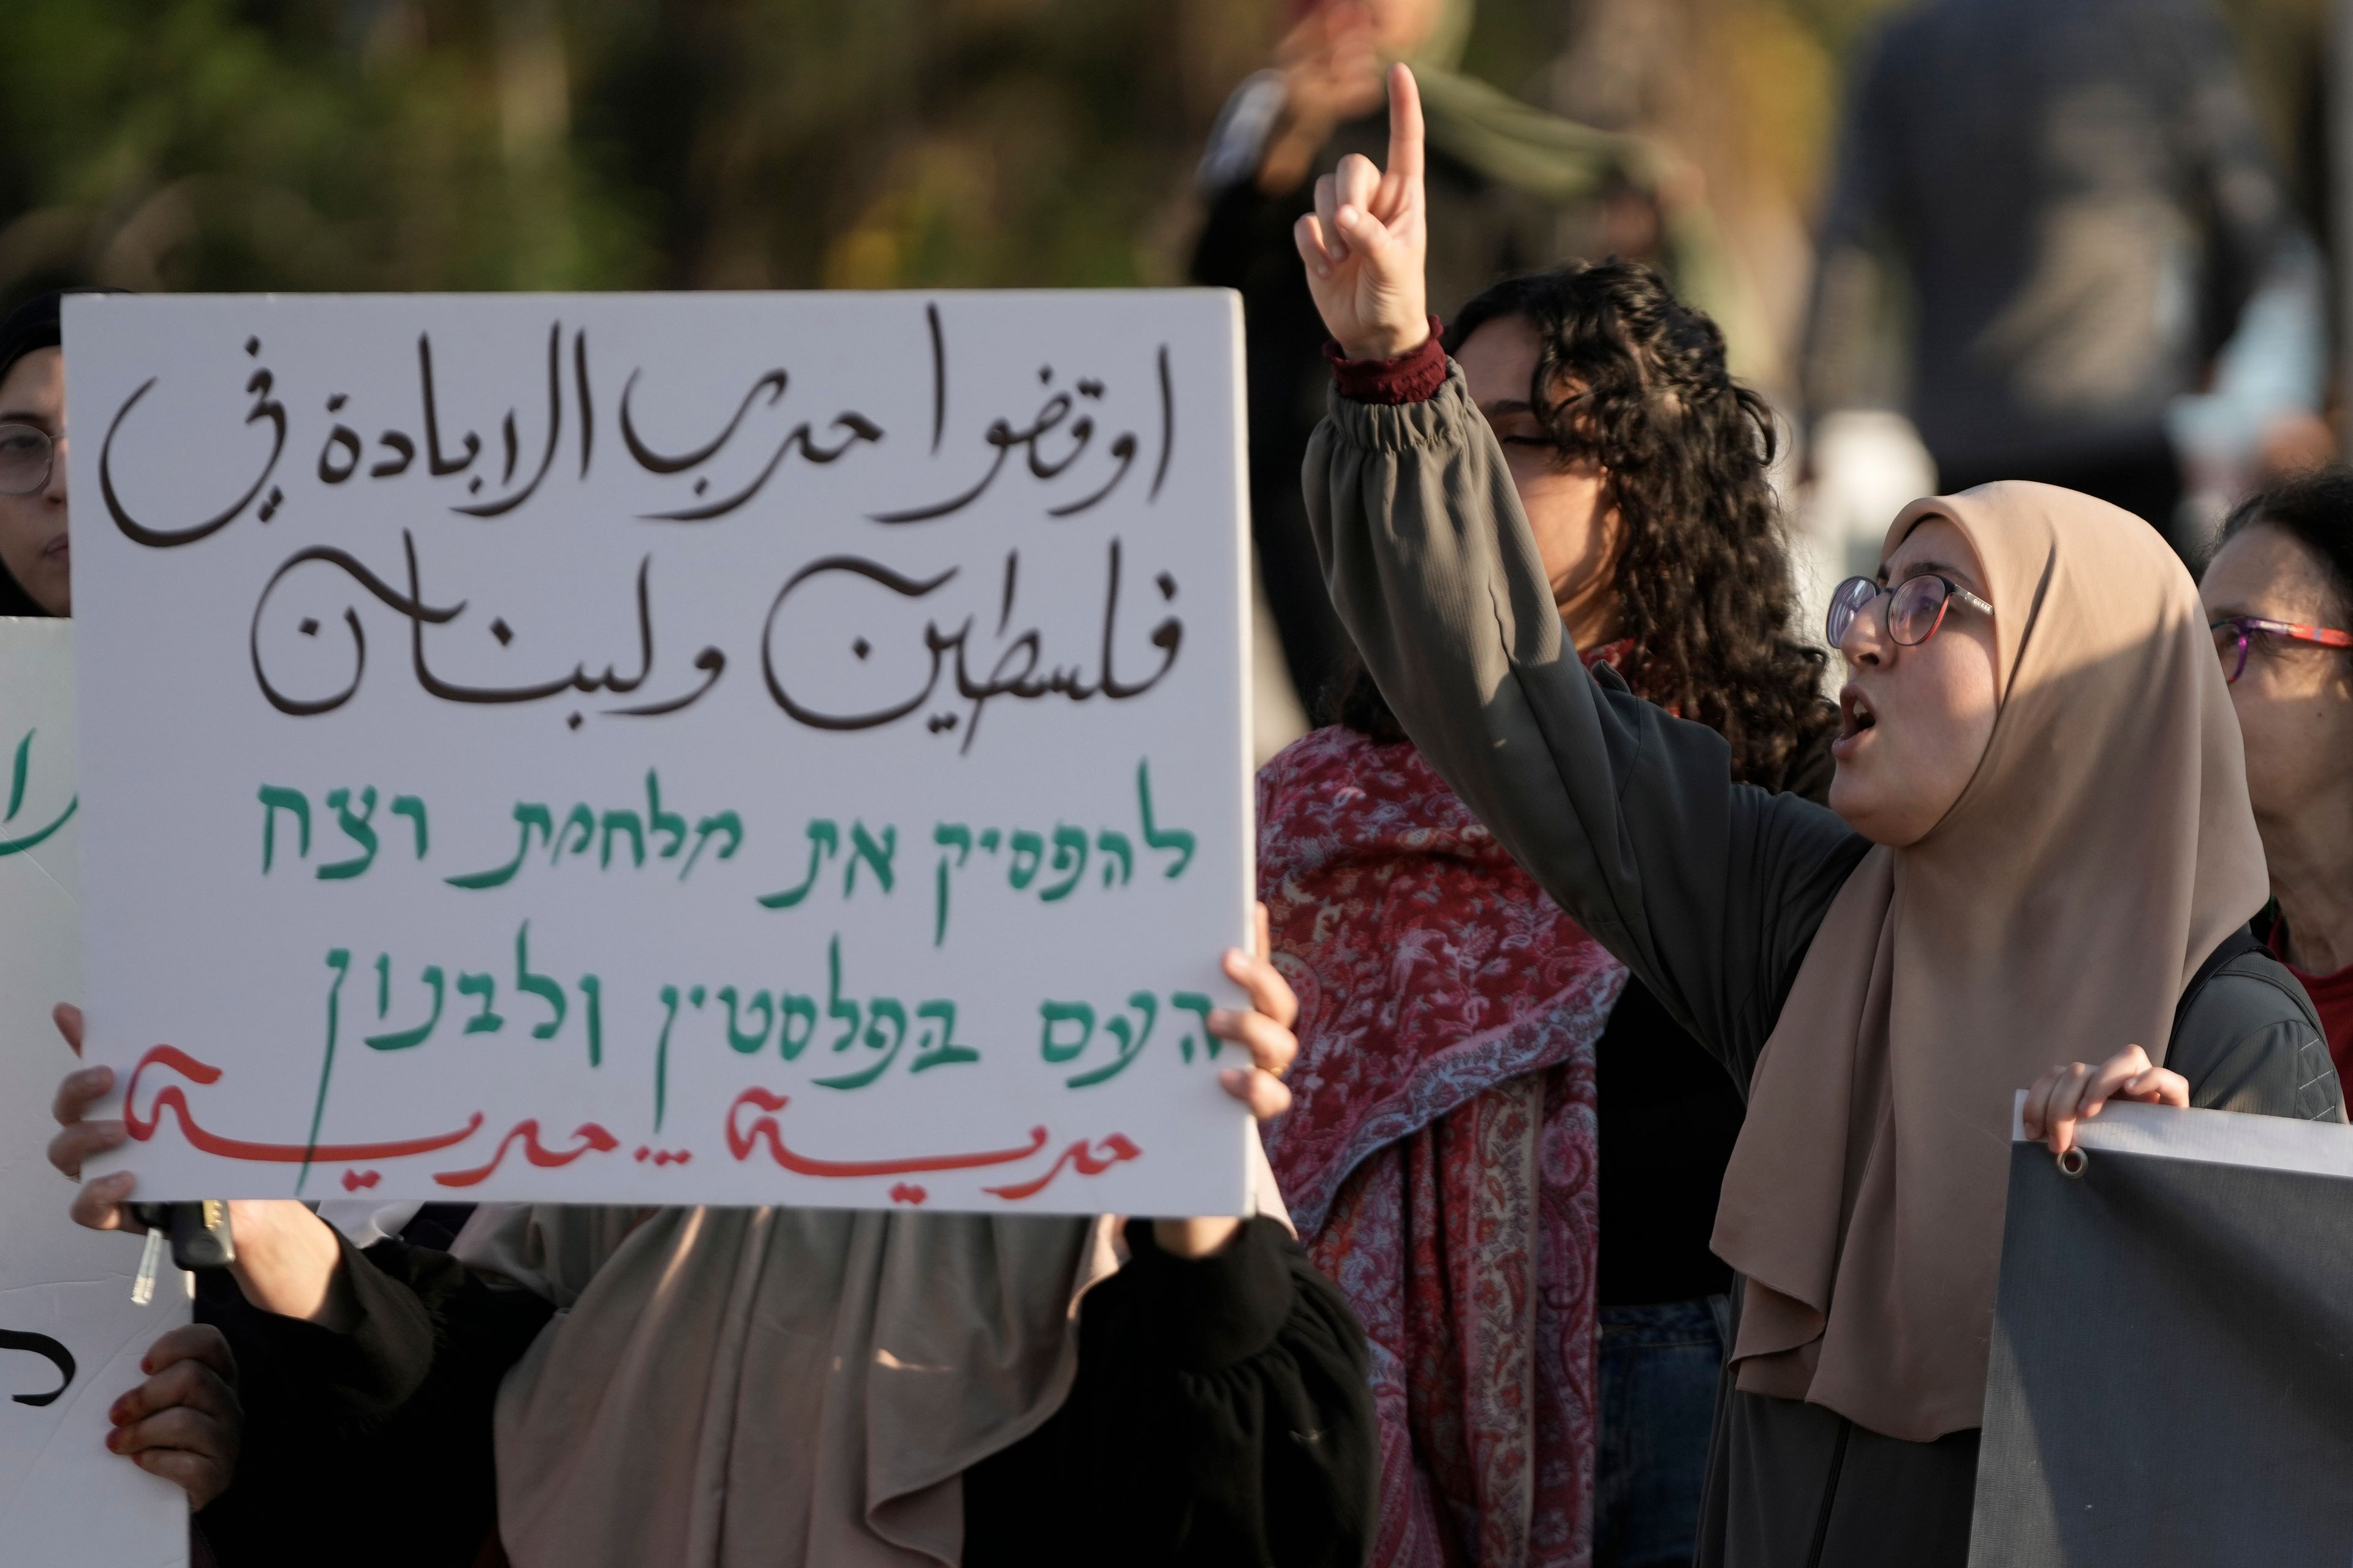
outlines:
[[[1334,393],[1304,480],[1332,604],[1414,745],[1746,1081],[1864,839],[1586,675],[1459,367],[1428,402]]]

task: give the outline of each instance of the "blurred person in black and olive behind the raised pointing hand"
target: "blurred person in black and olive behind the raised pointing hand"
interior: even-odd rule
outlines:
[[[1247,320],[1249,517],[1282,658],[1313,719],[1327,717],[1348,637],[1325,597],[1299,498],[1299,461],[1322,418],[1329,369],[1292,223],[1313,176],[1388,139],[1381,71],[1412,61],[1426,94],[1433,212],[1431,303],[1454,310],[1489,282],[1567,254],[1657,259],[1680,230],[1661,216],[1654,158],[1454,71],[1475,0],[1287,0],[1275,66],[1226,101],[1200,162],[1209,207],[1193,282],[1238,289]],[[1534,66],[1537,61],[1529,61]],[[1697,247],[1682,242],[1682,249]]]

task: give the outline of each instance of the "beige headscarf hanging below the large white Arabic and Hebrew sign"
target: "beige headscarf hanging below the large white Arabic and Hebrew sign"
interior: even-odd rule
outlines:
[[[1113,1220],[480,1211],[459,1255],[555,1302],[499,1389],[515,1568],[932,1568],[962,1472],[1078,1373]]]

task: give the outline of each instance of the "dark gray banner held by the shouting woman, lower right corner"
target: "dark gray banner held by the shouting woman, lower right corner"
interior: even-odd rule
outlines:
[[[2348,1568],[2353,1133],[2101,1121],[2012,1145],[1972,1568]]]

